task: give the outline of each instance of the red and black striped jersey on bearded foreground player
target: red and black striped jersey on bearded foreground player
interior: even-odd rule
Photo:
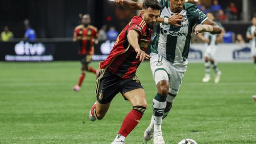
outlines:
[[[127,34],[130,30],[136,30],[139,34],[140,49],[145,51],[151,41],[152,29],[148,28],[141,16],[134,16],[116,39],[111,53],[105,61],[100,62],[100,68],[108,70],[111,74],[123,79],[135,76],[140,60],[136,59],[137,53],[129,44]]]

